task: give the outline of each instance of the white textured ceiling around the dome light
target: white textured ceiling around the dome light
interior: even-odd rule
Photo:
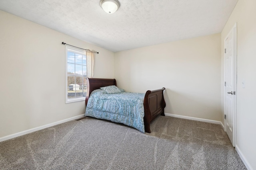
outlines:
[[[0,10],[116,52],[220,33],[237,1],[119,0],[107,14],[100,0],[0,0]]]

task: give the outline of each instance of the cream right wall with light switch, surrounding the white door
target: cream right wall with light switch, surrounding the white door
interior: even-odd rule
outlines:
[[[256,170],[256,0],[239,0],[221,33],[221,100],[224,123],[224,39],[237,23],[237,143]],[[245,80],[245,88],[242,81]]]

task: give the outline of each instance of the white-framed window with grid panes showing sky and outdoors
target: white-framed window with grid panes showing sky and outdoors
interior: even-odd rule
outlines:
[[[85,100],[86,51],[66,47],[66,103]]]

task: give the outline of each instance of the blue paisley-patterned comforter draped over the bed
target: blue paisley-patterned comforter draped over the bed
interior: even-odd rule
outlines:
[[[145,133],[144,96],[144,93],[106,94],[103,90],[94,90],[90,94],[85,116],[123,123]]]

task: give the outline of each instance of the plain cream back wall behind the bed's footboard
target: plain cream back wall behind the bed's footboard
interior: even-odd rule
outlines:
[[[165,87],[165,113],[220,121],[220,34],[115,53],[117,85]]]

